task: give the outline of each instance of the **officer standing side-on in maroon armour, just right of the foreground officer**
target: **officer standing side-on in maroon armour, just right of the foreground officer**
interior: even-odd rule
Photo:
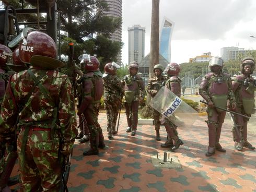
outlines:
[[[78,115],[84,114],[90,135],[90,149],[83,155],[99,154],[98,148],[104,148],[104,137],[98,123],[100,98],[103,94],[102,73],[100,63],[95,56],[85,54],[81,60],[86,74],[83,77],[83,100],[78,109]]]

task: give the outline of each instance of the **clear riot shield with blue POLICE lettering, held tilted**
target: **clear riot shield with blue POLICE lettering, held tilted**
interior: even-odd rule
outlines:
[[[178,127],[192,126],[199,119],[197,111],[166,87],[157,92],[149,105]]]

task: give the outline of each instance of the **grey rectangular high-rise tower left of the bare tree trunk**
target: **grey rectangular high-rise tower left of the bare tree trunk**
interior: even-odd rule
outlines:
[[[145,56],[145,27],[128,27],[128,63],[140,63]]]

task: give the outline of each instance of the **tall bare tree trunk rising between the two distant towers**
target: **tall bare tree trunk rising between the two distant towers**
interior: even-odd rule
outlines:
[[[156,64],[159,64],[159,0],[152,0],[149,77],[154,75]]]

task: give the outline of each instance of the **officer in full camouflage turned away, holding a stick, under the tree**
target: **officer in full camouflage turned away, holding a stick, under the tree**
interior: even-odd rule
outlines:
[[[117,134],[115,124],[117,123],[118,112],[121,107],[124,94],[123,85],[117,76],[117,69],[120,65],[116,63],[107,63],[104,67],[103,87],[104,87],[104,107],[107,113],[107,131],[108,138],[113,139]]]

